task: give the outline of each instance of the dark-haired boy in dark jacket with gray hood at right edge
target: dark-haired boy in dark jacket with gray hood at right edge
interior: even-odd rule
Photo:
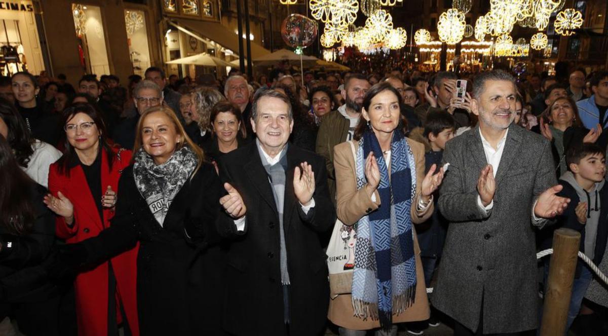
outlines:
[[[608,239],[608,187],[606,180],[606,158],[604,150],[596,144],[573,146],[566,153],[568,172],[559,178],[564,186],[559,196],[570,198],[564,214],[557,217],[555,228],[570,228],[581,233],[579,251],[586,254],[599,265]],[[606,205],[604,205],[606,202]],[[544,248],[552,245],[553,233],[542,244]],[[545,286],[547,284],[549,258],[545,260]],[[568,308],[566,330],[581,309],[582,298],[592,279],[592,271],[581,259],[576,264],[572,296]]]

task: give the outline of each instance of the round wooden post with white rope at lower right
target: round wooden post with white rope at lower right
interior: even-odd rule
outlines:
[[[541,336],[564,335],[581,234],[557,229],[553,234],[553,256],[549,264],[542,312]]]

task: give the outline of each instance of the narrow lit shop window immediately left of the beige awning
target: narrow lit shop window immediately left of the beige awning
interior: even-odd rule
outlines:
[[[133,73],[143,77],[145,69],[150,67],[150,46],[145,13],[142,10],[125,10],[125,26]]]

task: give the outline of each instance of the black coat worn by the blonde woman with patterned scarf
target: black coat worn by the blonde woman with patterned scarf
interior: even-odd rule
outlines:
[[[85,240],[88,262],[98,262],[139,241],[137,307],[140,335],[221,335],[224,253],[215,231],[221,185],[204,163],[175,195],[161,226],[142,198],[127,167],[119,182],[112,225]],[[188,222],[204,226],[204,239],[185,234]],[[192,234],[192,233],[190,233]]]

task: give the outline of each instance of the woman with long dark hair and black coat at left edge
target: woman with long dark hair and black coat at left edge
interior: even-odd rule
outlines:
[[[58,335],[59,296],[44,265],[55,244],[46,189],[21,170],[0,135],[0,321],[12,315],[22,334]]]

